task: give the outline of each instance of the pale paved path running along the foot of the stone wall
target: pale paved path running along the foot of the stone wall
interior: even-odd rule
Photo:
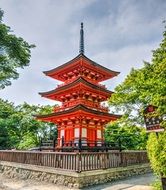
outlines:
[[[112,183],[86,187],[84,190],[152,190],[149,185],[153,181],[152,174],[145,174]],[[8,179],[0,174],[0,190],[69,190],[69,188],[31,180]]]

